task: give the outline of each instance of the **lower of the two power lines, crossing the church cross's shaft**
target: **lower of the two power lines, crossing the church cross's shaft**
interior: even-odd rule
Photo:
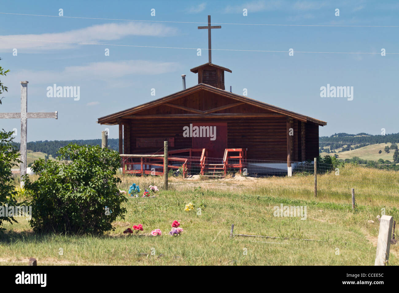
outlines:
[[[146,46],[146,45],[118,45],[118,44],[101,44],[101,43],[81,43],[81,42],[65,42],[65,41],[49,41],[49,40],[35,40],[35,39],[16,39],[9,37],[0,37],[0,39],[9,39],[16,41],[37,41],[37,42],[51,42],[51,43],[66,43],[78,45],[102,45],[102,46],[117,46],[117,47],[143,47],[143,48],[158,48],[158,49],[188,49],[197,50],[201,48],[187,48],[187,47],[160,47],[160,46]],[[201,50],[209,50],[204,48]],[[243,52],[271,52],[271,53],[289,53],[290,51],[276,51],[276,50],[240,50],[240,49],[212,49],[214,51],[243,51]],[[381,54],[380,52],[318,52],[318,51],[293,51],[294,53],[324,53],[324,54]],[[392,55],[399,55],[399,53],[385,53]]]

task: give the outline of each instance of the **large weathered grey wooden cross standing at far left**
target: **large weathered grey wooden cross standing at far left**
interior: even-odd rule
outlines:
[[[58,112],[30,112],[28,113],[28,81],[21,81],[21,112],[20,113],[0,113],[0,118],[20,118],[21,119],[21,161],[20,176],[21,187],[24,186],[22,176],[26,175],[26,122],[28,118],[55,118],[58,119]]]

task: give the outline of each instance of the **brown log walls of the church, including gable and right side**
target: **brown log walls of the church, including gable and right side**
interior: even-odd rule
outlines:
[[[287,160],[287,123],[286,116],[257,117],[257,118],[156,118],[162,114],[194,114],[184,109],[192,108],[207,111],[228,104],[235,104],[237,100],[218,94],[198,91],[183,98],[173,100],[169,104],[182,106],[176,108],[162,104],[154,108],[135,113],[134,116],[146,115],[146,118],[123,119],[124,153],[153,153],[160,151],[160,147],[137,147],[136,138],[174,138],[174,147],[168,149],[183,149],[192,147],[192,138],[183,137],[183,127],[190,123],[227,123],[227,147],[247,148],[247,158],[253,160]],[[218,110],[212,113],[271,113],[263,108],[240,103],[237,106]],[[150,118],[147,118],[150,115]],[[154,118],[152,118],[154,117]],[[302,134],[302,125],[305,133]],[[304,157],[313,160],[318,156],[318,125],[312,122],[302,123],[296,119],[292,121],[294,129],[292,161],[302,161],[302,136],[305,139]],[[217,138],[216,138],[217,139]]]

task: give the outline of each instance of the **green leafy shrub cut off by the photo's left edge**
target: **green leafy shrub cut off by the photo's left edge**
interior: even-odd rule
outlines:
[[[15,187],[12,184],[11,168],[18,166],[16,163],[20,163],[21,161],[18,159],[18,150],[11,145],[12,140],[12,131],[6,132],[4,129],[0,131],[0,206],[4,207],[6,205],[16,205],[15,196],[17,192],[14,190]],[[3,221],[10,222],[11,224],[12,222],[17,222],[12,216],[0,216],[0,230],[4,230],[4,228],[1,228]]]

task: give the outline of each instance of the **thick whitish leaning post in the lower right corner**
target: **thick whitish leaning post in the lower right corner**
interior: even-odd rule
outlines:
[[[385,265],[385,263],[388,261],[389,247],[391,246],[392,223],[392,216],[381,216],[374,265]]]

